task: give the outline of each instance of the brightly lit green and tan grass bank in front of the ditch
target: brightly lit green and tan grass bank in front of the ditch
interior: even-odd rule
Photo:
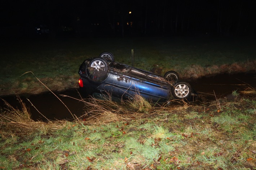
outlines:
[[[0,168],[256,168],[255,98],[164,108],[151,104],[144,112],[111,100],[84,104],[93,116],[72,122],[35,122],[22,102],[22,111],[2,110]]]

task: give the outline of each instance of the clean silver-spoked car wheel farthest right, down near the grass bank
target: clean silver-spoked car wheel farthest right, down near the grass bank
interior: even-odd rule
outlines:
[[[172,88],[173,97],[176,99],[187,99],[191,95],[191,86],[187,82],[177,82]]]

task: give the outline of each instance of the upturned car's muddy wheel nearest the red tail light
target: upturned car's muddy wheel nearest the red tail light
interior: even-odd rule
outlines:
[[[107,78],[109,72],[109,64],[103,58],[93,58],[89,62],[87,75],[89,79],[95,82],[101,82]]]

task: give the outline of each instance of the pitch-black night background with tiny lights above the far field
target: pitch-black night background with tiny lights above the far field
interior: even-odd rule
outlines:
[[[4,0],[0,6],[1,37],[256,33],[255,0]]]

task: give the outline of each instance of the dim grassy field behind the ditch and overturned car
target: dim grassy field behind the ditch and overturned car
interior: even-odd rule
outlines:
[[[175,70],[181,78],[220,72],[256,70],[255,41],[246,38],[68,38],[1,42],[0,96],[77,88],[78,68],[87,58],[109,51],[120,63],[163,75]],[[21,76],[22,75],[22,76]]]

